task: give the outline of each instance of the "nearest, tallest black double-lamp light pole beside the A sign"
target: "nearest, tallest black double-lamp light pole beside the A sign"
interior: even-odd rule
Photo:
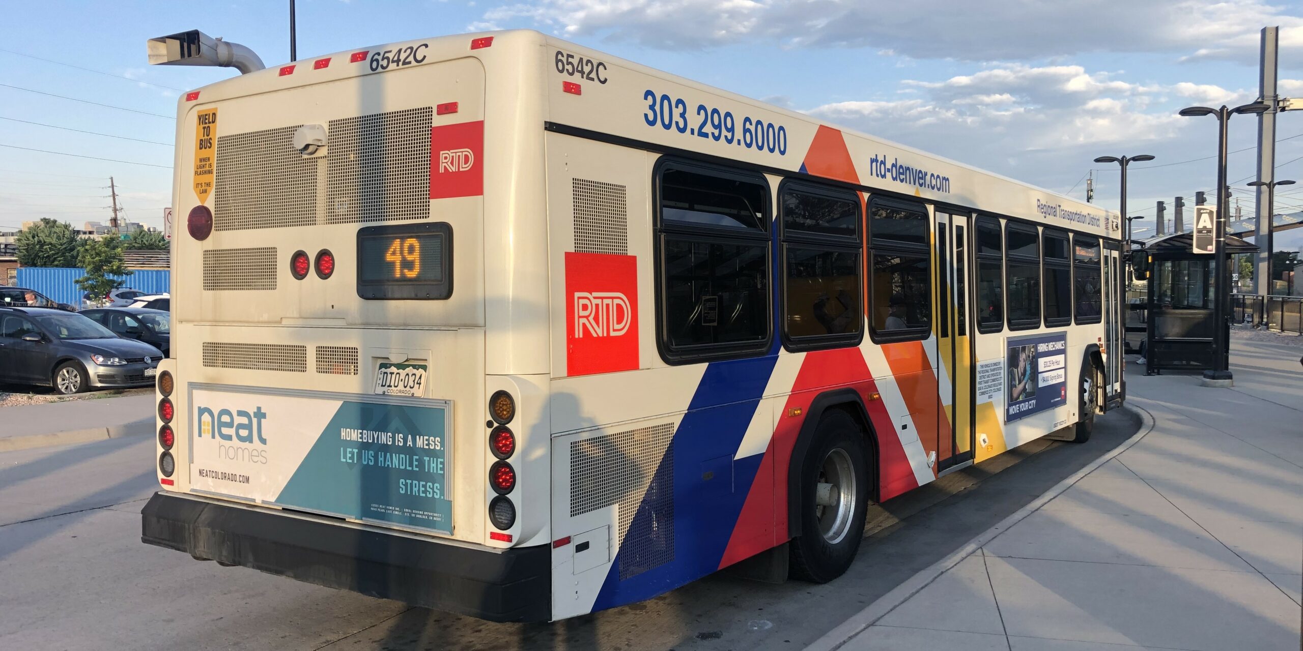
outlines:
[[[1217,223],[1214,224],[1216,243],[1213,245],[1213,367],[1204,371],[1204,384],[1230,387],[1234,379],[1230,372],[1230,264],[1226,256],[1226,212],[1230,210],[1226,198],[1226,122],[1231,113],[1261,113],[1270,104],[1253,102],[1235,108],[1190,107],[1182,108],[1182,117],[1217,116]],[[1212,381],[1208,381],[1212,380]]]

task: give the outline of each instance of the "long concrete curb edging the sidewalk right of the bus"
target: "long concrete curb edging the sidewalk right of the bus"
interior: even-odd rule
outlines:
[[[941,559],[939,561],[932,564],[926,569],[920,570],[917,574],[906,579],[904,583],[900,583],[899,586],[894,587],[890,592],[880,596],[877,602],[873,602],[863,611],[852,615],[851,618],[846,620],[835,629],[827,631],[823,637],[812,642],[809,646],[805,647],[805,651],[837,651],[838,648],[842,648],[842,646],[850,642],[851,638],[863,633],[865,629],[868,629],[876,621],[881,620],[887,613],[894,611],[898,605],[907,602],[920,590],[928,587],[928,585],[936,581],[938,577],[949,572],[955,565],[959,565],[959,561],[967,559],[977,549],[981,549],[986,543],[992,542],[992,539],[994,539],[999,534],[1003,534],[1007,529],[1012,527],[1027,516],[1031,516],[1054,497],[1058,497],[1059,493],[1068,490],[1072,484],[1081,480],[1081,478],[1084,478],[1085,475],[1096,471],[1100,466],[1111,461],[1113,457],[1122,454],[1136,443],[1140,443],[1140,439],[1144,439],[1147,434],[1153,431],[1154,426],[1153,414],[1147,411],[1144,408],[1139,408],[1135,405],[1123,405],[1122,409],[1126,409],[1140,417],[1140,430],[1136,434],[1131,435],[1130,439],[1122,441],[1122,444],[1106,452],[1100,458],[1087,464],[1081,470],[1072,473],[1062,482],[1054,484],[1053,488],[1045,491],[1044,493],[1041,493],[1040,497],[1036,497],[1025,506],[1011,513],[1007,518],[999,521],[995,526],[988,529],[986,531],[982,531],[981,534],[977,534],[976,538],[968,540],[967,544],[964,544],[959,549],[955,549],[950,556],[946,556],[945,559]]]

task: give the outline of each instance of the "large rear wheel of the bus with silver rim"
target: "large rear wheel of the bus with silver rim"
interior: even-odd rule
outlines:
[[[791,575],[826,583],[855,560],[869,501],[868,449],[850,414],[829,410],[801,467],[801,533],[792,539]]]

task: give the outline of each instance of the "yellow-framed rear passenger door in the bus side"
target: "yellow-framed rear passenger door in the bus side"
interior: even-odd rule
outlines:
[[[973,458],[967,240],[967,216],[937,212],[938,474]]]

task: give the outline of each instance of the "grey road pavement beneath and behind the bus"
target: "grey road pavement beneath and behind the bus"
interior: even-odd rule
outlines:
[[[5,410],[8,411],[8,409]],[[4,414],[0,414],[4,415]],[[0,648],[800,648],[1131,436],[1035,441],[872,508],[860,559],[822,586],[719,573],[556,624],[490,624],[139,542],[151,437],[0,453]]]

